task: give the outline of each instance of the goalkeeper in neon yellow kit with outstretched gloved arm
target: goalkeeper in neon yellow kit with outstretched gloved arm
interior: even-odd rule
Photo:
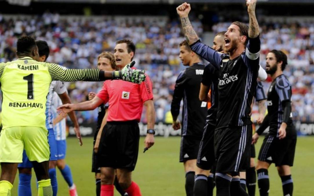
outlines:
[[[11,195],[23,149],[32,162],[38,180],[38,195],[52,196],[48,173],[50,150],[45,125],[46,96],[52,80],[101,81],[123,79],[144,80],[143,70],[130,65],[121,71],[66,70],[57,64],[39,62],[38,48],[30,36],[18,39],[15,61],[0,64],[3,93],[0,135],[0,196]],[[12,79],[14,78],[14,79]]]

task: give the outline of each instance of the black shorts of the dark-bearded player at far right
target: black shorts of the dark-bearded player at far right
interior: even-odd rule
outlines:
[[[274,163],[276,166],[293,166],[296,139],[279,139],[266,135],[258,154],[258,160]]]

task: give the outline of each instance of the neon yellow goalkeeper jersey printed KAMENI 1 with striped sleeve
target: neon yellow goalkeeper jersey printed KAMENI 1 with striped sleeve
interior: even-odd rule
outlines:
[[[38,62],[30,57],[1,63],[3,129],[12,126],[45,128],[46,96],[52,80],[99,81],[102,76],[96,69],[65,69],[58,64]]]

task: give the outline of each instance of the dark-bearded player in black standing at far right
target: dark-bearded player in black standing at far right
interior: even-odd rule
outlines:
[[[291,118],[291,85],[283,74],[286,66],[287,56],[283,52],[272,50],[267,54],[266,72],[273,80],[267,93],[268,114],[252,139],[252,143],[256,143],[259,135],[269,126],[256,166],[261,196],[268,195],[268,168],[271,163],[277,167],[284,195],[292,196],[293,193],[290,167],[293,166],[297,136]]]

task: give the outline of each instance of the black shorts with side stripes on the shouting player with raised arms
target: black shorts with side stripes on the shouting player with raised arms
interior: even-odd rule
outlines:
[[[214,133],[216,172],[239,172],[249,167],[251,142],[252,125],[216,129]]]

